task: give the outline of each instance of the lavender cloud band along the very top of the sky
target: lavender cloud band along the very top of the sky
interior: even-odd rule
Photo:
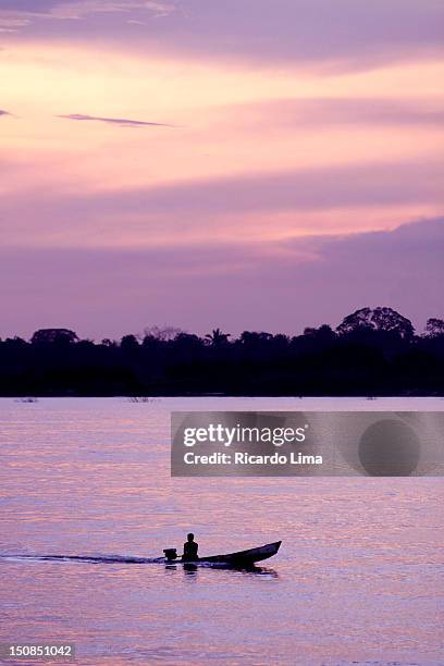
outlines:
[[[0,11],[0,20],[32,21],[26,34],[35,30],[45,37],[112,35],[113,41],[122,40],[131,49],[155,47],[170,55],[267,65],[272,61],[317,65],[328,72],[372,69],[443,52],[440,0],[42,0],[40,12],[35,4],[23,1],[22,11],[16,11],[16,2],[4,0],[7,11]],[[134,22],[146,18],[143,30],[135,30]]]

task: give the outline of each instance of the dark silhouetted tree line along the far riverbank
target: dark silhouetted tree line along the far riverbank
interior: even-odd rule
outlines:
[[[40,329],[0,340],[0,395],[444,395],[444,320],[417,334],[392,308],[288,336],[150,329],[119,342]]]

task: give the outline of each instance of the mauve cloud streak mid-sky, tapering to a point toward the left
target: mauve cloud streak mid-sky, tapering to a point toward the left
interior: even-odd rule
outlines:
[[[266,172],[86,196],[83,209],[206,215],[442,201],[441,166],[371,163]]]

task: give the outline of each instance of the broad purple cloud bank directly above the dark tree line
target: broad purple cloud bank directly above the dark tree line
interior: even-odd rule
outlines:
[[[394,307],[422,329],[443,314],[443,219],[260,248],[5,248],[0,284],[11,287],[0,334],[65,325],[100,338],[156,323],[296,333],[367,305]]]

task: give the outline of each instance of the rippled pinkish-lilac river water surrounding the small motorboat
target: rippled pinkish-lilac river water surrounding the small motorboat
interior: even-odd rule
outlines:
[[[0,553],[205,554],[258,572],[0,559],[0,641],[78,664],[444,664],[443,479],[171,479],[173,409],[434,409],[439,399],[0,400]],[[23,663],[23,662],[22,662]]]

